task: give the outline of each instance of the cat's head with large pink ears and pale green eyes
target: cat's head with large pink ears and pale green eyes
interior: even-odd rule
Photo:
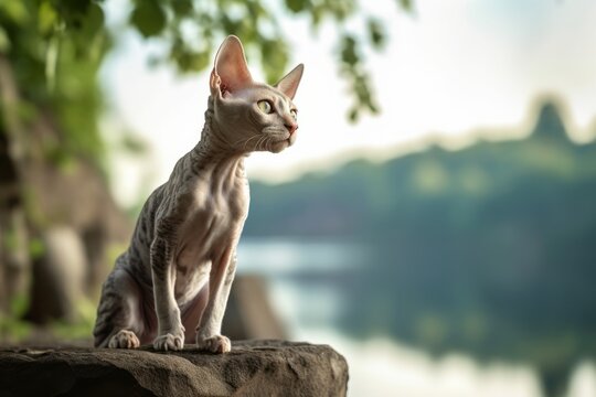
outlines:
[[[296,141],[298,109],[292,103],[302,77],[296,66],[276,85],[253,81],[244,49],[236,36],[227,36],[215,56],[210,88],[217,139],[230,149],[279,152]]]

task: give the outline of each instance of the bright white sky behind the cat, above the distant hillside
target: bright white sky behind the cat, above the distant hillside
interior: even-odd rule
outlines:
[[[361,3],[384,18],[390,35],[385,51],[368,58],[382,114],[349,125],[332,26],[313,36],[305,21],[288,20],[290,67],[306,65],[295,98],[300,130],[288,150],[248,159],[253,179],[288,180],[354,157],[384,160],[429,140],[458,146],[478,129],[521,132],[543,94],[566,103],[576,139],[595,130],[596,1],[416,0],[414,15],[401,12],[394,0]],[[120,0],[108,2],[110,10],[119,6]],[[151,147],[142,161],[114,155],[121,175],[115,178],[116,193],[125,204],[167,180],[199,140],[206,107],[209,73],[182,78],[167,67],[150,68],[151,49],[137,35],[125,35],[103,69],[111,106],[107,138],[128,128]],[[260,79],[258,65],[248,63]]]

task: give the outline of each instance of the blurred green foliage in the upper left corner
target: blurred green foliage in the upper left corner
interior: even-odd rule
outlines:
[[[43,154],[56,163],[73,154],[98,158],[103,149],[96,76],[109,49],[104,19],[88,0],[0,2],[0,56],[12,66],[21,119],[57,125],[63,136],[43,142]]]

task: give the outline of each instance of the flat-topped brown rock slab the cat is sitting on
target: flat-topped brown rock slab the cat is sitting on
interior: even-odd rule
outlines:
[[[223,355],[84,347],[0,350],[0,395],[345,396],[348,364],[327,345],[234,342]]]

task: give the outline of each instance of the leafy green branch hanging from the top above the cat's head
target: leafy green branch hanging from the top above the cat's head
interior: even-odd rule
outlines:
[[[398,1],[398,6],[412,9],[411,1]],[[377,18],[363,15],[358,0],[285,0],[278,8],[255,0],[136,0],[129,21],[143,37],[164,37],[168,51],[155,61],[173,62],[181,72],[206,68],[217,41],[235,34],[248,51],[260,55],[268,81],[275,82],[289,58],[288,40],[279,22],[288,14],[308,19],[315,31],[323,23],[334,24],[337,60],[354,97],[349,118],[355,121],[362,110],[377,112],[362,51],[382,49],[386,33]],[[358,35],[347,28],[354,21],[366,34]]]

